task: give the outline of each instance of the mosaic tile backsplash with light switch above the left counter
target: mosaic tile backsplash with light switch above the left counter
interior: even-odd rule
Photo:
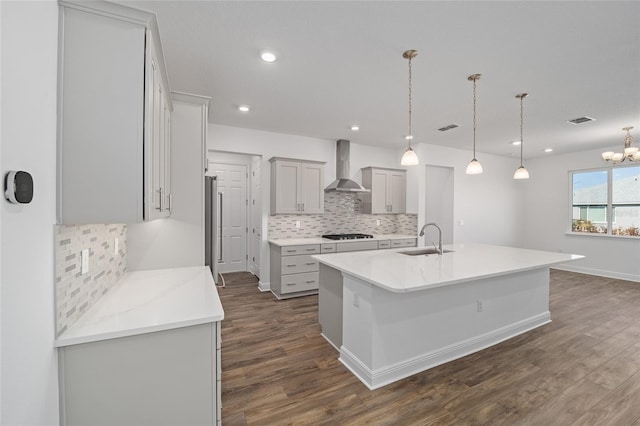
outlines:
[[[83,275],[81,252],[84,249],[89,249],[89,271]],[[56,226],[56,336],[124,275],[126,254],[126,225]]]

